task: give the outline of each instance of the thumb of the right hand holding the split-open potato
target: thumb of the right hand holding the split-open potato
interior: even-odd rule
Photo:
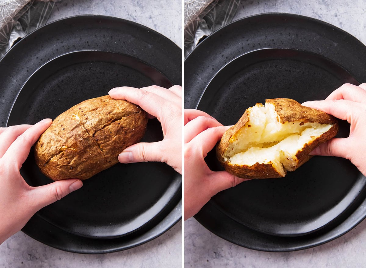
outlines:
[[[346,139],[333,138],[320,144],[309,155],[328,155],[346,158],[346,152],[349,147],[346,145]]]

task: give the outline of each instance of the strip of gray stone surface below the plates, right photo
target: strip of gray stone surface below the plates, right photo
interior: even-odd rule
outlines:
[[[208,231],[191,218],[184,222],[184,267],[322,268],[365,267],[366,221],[315,248],[262,252],[242,248]]]

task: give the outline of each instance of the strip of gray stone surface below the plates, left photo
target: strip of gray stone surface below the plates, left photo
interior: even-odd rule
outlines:
[[[1,268],[181,267],[182,223],[136,248],[108,254],[77,254],[44,245],[18,232],[0,245]]]

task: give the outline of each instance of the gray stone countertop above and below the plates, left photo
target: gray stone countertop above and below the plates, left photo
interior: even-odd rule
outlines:
[[[182,47],[182,2],[134,0],[61,0],[48,22],[68,16],[96,14],[115,16],[143,24]],[[160,237],[136,248],[109,254],[76,254],[46,246],[21,231],[0,245],[0,267],[181,267],[182,223]]]

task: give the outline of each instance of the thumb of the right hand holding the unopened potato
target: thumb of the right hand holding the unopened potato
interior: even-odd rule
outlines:
[[[121,163],[163,162],[161,141],[140,142],[124,149],[118,156]]]

